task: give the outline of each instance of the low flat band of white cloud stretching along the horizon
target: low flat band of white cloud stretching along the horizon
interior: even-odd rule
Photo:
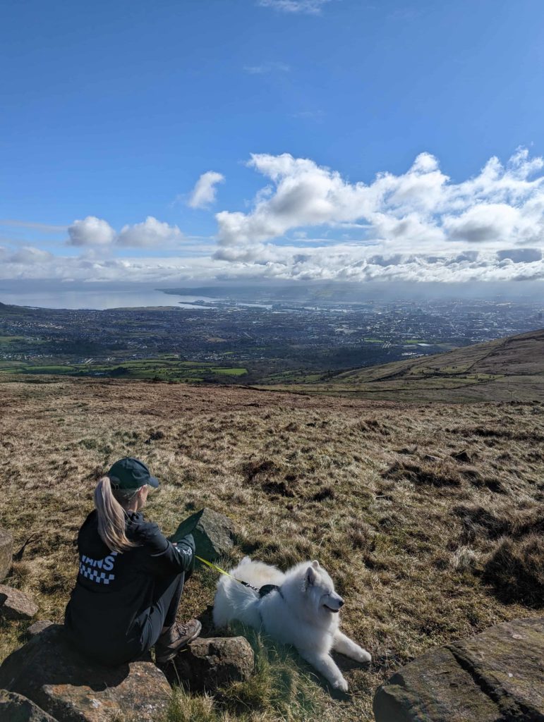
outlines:
[[[539,280],[544,288],[540,249],[510,249],[501,253],[380,253],[342,243],[334,247],[255,245],[220,248],[216,258],[93,258],[29,254],[7,256],[0,279],[57,279],[111,282],[179,282],[181,279],[322,279],[327,281],[480,282]],[[530,251],[517,255],[522,251]],[[540,253],[542,256],[542,253]],[[1,253],[0,253],[1,257]]]

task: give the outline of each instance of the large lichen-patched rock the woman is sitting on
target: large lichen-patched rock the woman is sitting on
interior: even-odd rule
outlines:
[[[51,625],[0,666],[0,687],[25,695],[58,722],[152,722],[165,713],[170,686],[151,661],[105,667],[83,657]]]

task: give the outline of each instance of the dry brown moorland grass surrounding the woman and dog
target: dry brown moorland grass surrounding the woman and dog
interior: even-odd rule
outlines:
[[[345,630],[374,657],[370,669],[339,658],[351,694],[333,698],[295,655],[257,636],[253,682],[213,700],[180,690],[170,722],[295,720],[308,709],[325,722],[371,720],[376,687],[401,664],[537,614],[542,405],[40,380],[0,383],[0,523],[17,547],[34,535],[9,583],[35,595],[40,617],[61,621],[95,480],[129,455],[163,479],[147,513],[165,532],[207,505],[236,522],[236,558],[282,568],[319,559],[345,596]],[[214,585],[199,571],[184,614],[209,620]],[[26,626],[4,623],[0,656]]]

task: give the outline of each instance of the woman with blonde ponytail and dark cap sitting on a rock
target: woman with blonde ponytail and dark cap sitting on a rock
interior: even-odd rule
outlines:
[[[79,530],[79,574],[64,623],[79,650],[102,664],[132,661],[153,646],[165,663],[202,627],[197,619],[176,622],[194,566],[193,537],[172,544],[141,513],[149,487],[158,485],[141,461],[116,461]]]

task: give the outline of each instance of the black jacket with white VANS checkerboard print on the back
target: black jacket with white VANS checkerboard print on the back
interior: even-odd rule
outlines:
[[[141,637],[155,584],[194,566],[191,534],[172,544],[142,513],[126,517],[126,536],[139,544],[111,552],[98,535],[92,511],[77,537],[79,573],[64,623],[85,653],[112,662],[141,653]]]

